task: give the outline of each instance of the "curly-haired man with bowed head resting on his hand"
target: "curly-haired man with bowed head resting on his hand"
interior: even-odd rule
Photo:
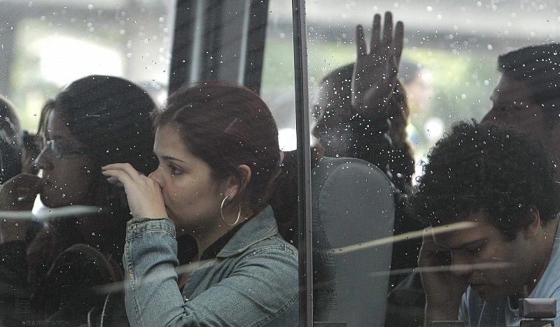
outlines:
[[[519,326],[520,298],[560,298],[560,188],[547,153],[477,123],[457,123],[430,151],[412,205],[447,229],[427,233],[420,251],[421,267],[441,267],[422,272],[426,322]]]

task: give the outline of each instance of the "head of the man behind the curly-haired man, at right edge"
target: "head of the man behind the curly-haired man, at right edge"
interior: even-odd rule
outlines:
[[[482,123],[535,137],[560,162],[560,44],[528,46],[498,57],[502,73]]]

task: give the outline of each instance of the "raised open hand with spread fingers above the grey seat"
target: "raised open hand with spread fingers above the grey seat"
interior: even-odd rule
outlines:
[[[404,25],[398,21],[393,36],[393,15],[385,13],[383,36],[381,15],[373,18],[370,51],[367,52],[363,27],[356,27],[358,55],[352,76],[352,106],[360,115],[373,118],[391,99],[402,54]]]

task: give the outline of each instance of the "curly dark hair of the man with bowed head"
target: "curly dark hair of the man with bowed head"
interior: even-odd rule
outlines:
[[[428,154],[418,181],[412,208],[433,226],[482,210],[511,240],[531,222],[531,211],[539,211],[542,225],[560,211],[554,162],[545,148],[496,126],[456,123]]]

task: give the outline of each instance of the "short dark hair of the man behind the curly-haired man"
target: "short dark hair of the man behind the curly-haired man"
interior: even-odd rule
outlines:
[[[552,123],[560,122],[560,44],[527,46],[498,57],[498,70],[523,82]]]

